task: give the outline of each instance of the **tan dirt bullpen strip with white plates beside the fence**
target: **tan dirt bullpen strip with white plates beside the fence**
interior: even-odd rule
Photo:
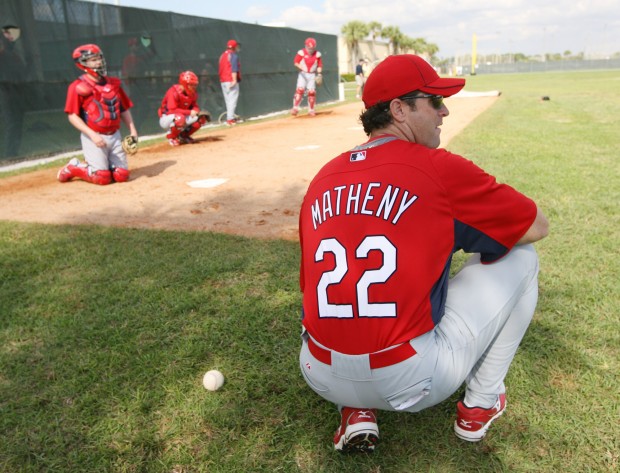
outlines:
[[[451,114],[441,146],[495,100],[447,99]],[[0,220],[295,240],[299,206],[314,174],[366,141],[357,119],[361,108],[353,103],[319,110],[313,118],[302,114],[203,130],[196,144],[177,148],[143,147],[130,158],[131,179],[122,184],[61,184],[54,169],[0,179]]]

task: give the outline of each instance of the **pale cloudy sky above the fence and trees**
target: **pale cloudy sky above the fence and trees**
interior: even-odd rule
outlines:
[[[330,34],[352,20],[378,21],[437,44],[440,57],[468,52],[473,33],[479,54],[620,51],[618,0],[91,1]]]

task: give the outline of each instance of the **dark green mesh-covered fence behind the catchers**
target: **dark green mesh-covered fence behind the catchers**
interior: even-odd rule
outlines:
[[[241,43],[237,113],[242,117],[291,107],[297,78],[293,58],[308,36],[317,39],[324,61],[325,82],[317,101],[338,99],[334,35],[76,0],[2,0],[0,21],[20,33],[15,41],[0,38],[4,161],[79,149],[78,132],[63,110],[67,87],[80,74],[71,53],[86,43],[99,45],[108,75],[123,80],[141,135],[162,133],[157,108],[183,70],[201,79],[201,107],[215,117],[225,111],[217,69],[233,38]]]

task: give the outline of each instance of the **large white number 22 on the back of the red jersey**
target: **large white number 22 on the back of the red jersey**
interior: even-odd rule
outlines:
[[[371,251],[383,254],[383,264],[378,269],[369,269],[360,277],[356,285],[359,317],[396,317],[396,304],[393,302],[368,302],[368,288],[372,284],[385,283],[396,271],[396,247],[384,236],[367,236],[355,250],[358,259],[367,258]],[[317,285],[319,317],[353,318],[352,304],[331,304],[327,299],[327,288],[339,284],[349,269],[347,251],[335,238],[322,240],[314,255],[316,262],[323,261],[325,253],[334,255],[336,265],[331,271],[322,274]]]

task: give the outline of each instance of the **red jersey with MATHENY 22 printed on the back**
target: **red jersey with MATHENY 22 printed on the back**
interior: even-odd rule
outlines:
[[[341,353],[407,342],[441,320],[452,255],[505,255],[535,203],[467,159],[396,139],[327,163],[301,207],[303,325]]]

